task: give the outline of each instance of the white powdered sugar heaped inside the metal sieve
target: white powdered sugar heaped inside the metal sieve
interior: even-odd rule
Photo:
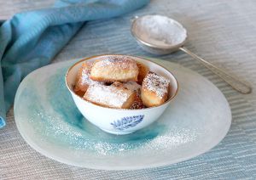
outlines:
[[[184,42],[187,31],[177,21],[161,15],[146,15],[137,20],[137,37],[156,46],[174,46]]]

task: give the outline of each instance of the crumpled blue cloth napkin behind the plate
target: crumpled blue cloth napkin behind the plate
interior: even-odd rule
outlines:
[[[62,0],[52,8],[15,14],[0,27],[0,127],[20,81],[49,64],[88,20],[119,16],[149,0]],[[26,105],[26,104],[24,104]]]

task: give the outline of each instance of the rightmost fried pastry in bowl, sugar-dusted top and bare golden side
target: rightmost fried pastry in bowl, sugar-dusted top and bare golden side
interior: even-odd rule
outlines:
[[[170,81],[166,77],[149,71],[142,85],[143,104],[147,107],[164,104],[168,98],[169,84]]]

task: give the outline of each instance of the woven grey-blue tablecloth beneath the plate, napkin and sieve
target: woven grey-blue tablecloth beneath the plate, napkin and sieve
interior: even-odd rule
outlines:
[[[0,20],[52,1],[0,0]],[[165,14],[189,31],[186,47],[256,87],[256,1],[154,0],[121,18],[90,22],[62,49],[53,63],[100,53],[153,57],[137,46],[130,33],[133,15]],[[236,93],[218,76],[182,52],[161,56],[199,72],[225,95],[232,125],[214,149],[192,160],[140,171],[99,171],[50,160],[20,137],[13,110],[0,130],[0,179],[256,179],[256,94]]]

